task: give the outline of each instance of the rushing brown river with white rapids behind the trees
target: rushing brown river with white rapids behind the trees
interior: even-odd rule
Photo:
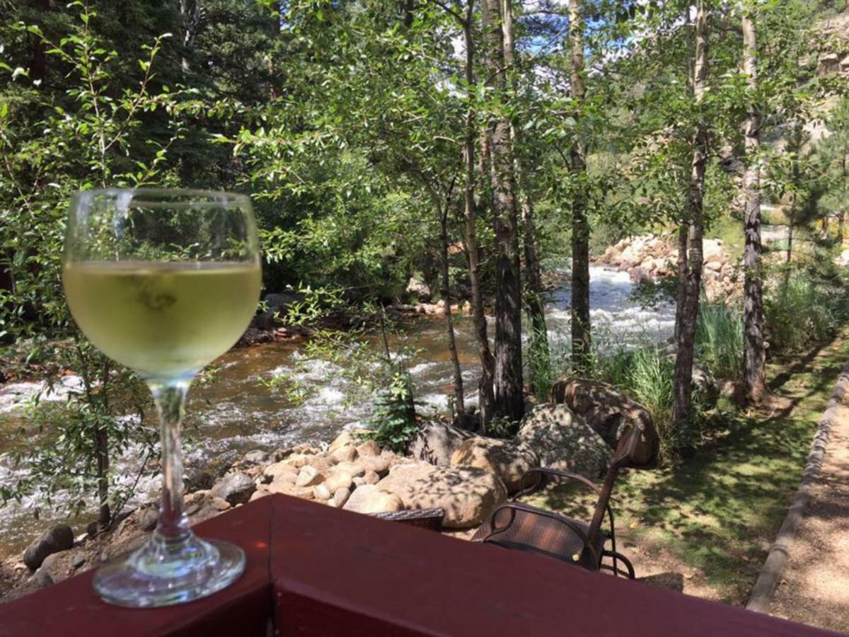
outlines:
[[[590,268],[590,305],[593,335],[604,342],[621,345],[637,341],[661,341],[672,334],[675,311],[671,305],[644,309],[633,302],[633,284],[624,272],[600,267]],[[569,346],[569,290],[555,290],[546,309],[548,338],[554,357]],[[469,403],[475,403],[477,386],[477,354],[475,337],[469,318],[458,318],[458,356],[466,382]],[[423,316],[408,321],[408,345],[415,353],[407,359],[413,376],[420,410],[447,408],[447,395],[453,392],[453,372],[448,357],[444,318]],[[492,330],[490,330],[492,333]],[[375,343],[374,347],[378,347]],[[267,343],[236,349],[225,354],[216,364],[219,370],[212,381],[193,387],[188,412],[193,414],[187,436],[190,443],[184,454],[191,467],[222,467],[253,449],[272,451],[296,443],[329,442],[346,427],[357,426],[368,418],[371,397],[357,395],[356,386],[346,380],[339,364],[306,357],[298,344]],[[263,384],[283,378],[288,386],[298,388],[299,397],[278,386]],[[65,378],[65,387],[42,399],[64,399],[76,388],[74,377]],[[24,418],[22,405],[40,390],[37,383],[14,383],[0,386],[0,426],[14,431]],[[14,483],[23,475],[20,468],[10,466],[7,442],[0,443],[0,481]],[[4,447],[5,446],[5,447]],[[138,472],[138,454],[127,454],[115,463],[128,483]],[[138,483],[138,501],[153,499],[158,493],[155,478]],[[57,501],[61,501],[59,493]],[[22,550],[50,522],[48,514],[35,520],[30,508],[37,504],[24,501],[21,506],[0,509],[0,558]],[[75,533],[82,533],[91,518],[71,520]]]

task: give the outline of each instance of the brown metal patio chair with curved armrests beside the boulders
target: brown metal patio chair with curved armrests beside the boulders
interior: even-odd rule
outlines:
[[[492,511],[492,515],[481,525],[472,541],[546,555],[590,571],[612,571],[617,576],[622,574],[619,567],[621,562],[626,567],[627,578],[633,579],[633,565],[626,557],[616,552],[616,527],[613,510],[610,508],[610,493],[621,469],[655,466],[657,452],[658,437],[654,427],[638,423],[627,425],[622,431],[616,452],[610,461],[610,469],[600,489],[584,476],[571,471],[543,467],[531,469],[522,476],[522,488],[519,493],[514,495],[512,501]],[[598,493],[599,499],[592,521],[587,523],[574,520],[518,501],[522,495],[535,491],[543,482],[553,478],[576,480]],[[605,512],[610,521],[609,533],[604,533],[601,529]],[[609,550],[605,548],[608,539]],[[610,563],[607,563],[605,558],[610,558]]]

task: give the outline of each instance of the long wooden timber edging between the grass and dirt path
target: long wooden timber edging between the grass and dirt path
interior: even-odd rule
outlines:
[[[784,571],[784,565],[790,557],[790,546],[793,544],[794,538],[796,538],[796,533],[799,530],[807,503],[811,499],[811,486],[818,479],[822,471],[825,450],[829,444],[831,426],[834,423],[837,409],[840,408],[846,396],[847,388],[849,388],[849,363],[841,370],[841,375],[837,378],[835,391],[829,397],[823,417],[819,420],[817,432],[811,443],[811,451],[807,454],[807,465],[805,465],[805,472],[802,474],[799,488],[796,490],[793,499],[790,500],[787,516],[784,517],[784,522],[779,528],[778,536],[769,550],[767,560],[763,563],[755,587],[751,591],[749,602],[745,606],[750,611],[769,612],[773,593],[778,586],[781,573]]]

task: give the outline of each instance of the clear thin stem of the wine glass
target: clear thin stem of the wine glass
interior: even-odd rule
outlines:
[[[180,429],[183,424],[186,394],[191,381],[149,381],[156,411],[160,418],[162,445],[162,502],[156,533],[166,540],[188,538],[188,516],[183,512],[183,457]]]

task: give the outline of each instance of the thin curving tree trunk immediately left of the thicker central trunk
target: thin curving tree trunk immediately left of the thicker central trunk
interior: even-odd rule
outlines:
[[[481,414],[481,429],[486,432],[486,424],[492,418],[495,408],[495,394],[492,380],[495,376],[495,359],[489,348],[489,335],[486,333],[486,313],[483,307],[481,290],[481,260],[477,245],[477,206],[475,206],[475,111],[472,107],[475,86],[475,42],[472,39],[472,19],[475,3],[469,0],[463,23],[463,37],[466,47],[465,76],[468,93],[464,122],[463,160],[465,166],[464,217],[466,222],[466,254],[469,258],[469,280],[472,287],[472,322],[475,324],[475,340],[481,357],[481,380],[478,382],[478,412]],[[483,154],[481,153],[481,156]],[[482,168],[481,168],[482,171]]]

